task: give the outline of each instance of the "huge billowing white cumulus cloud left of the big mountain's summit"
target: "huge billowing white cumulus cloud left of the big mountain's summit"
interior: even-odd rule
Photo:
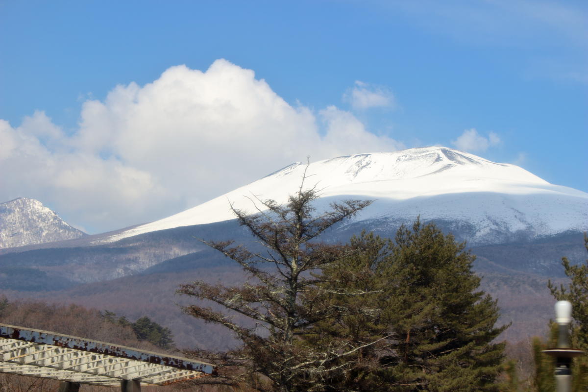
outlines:
[[[34,197],[99,232],[171,215],[307,155],[397,148],[351,113],[289,105],[253,71],[220,59],[86,100],[71,136],[44,112],[16,128],[0,120],[0,200]]]

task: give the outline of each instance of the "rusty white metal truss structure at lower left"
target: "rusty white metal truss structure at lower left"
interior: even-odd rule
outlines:
[[[208,376],[212,364],[115,346],[54,332],[0,324],[0,372],[64,381],[61,390],[79,384],[168,385]],[[68,389],[68,386],[77,386]],[[125,387],[132,386],[132,387]]]

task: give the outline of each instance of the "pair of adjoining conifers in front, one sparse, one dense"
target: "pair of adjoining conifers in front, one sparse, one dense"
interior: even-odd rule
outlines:
[[[465,244],[419,220],[394,239],[364,232],[320,242],[370,202],[317,213],[317,198],[302,183],[286,205],[256,199],[255,214],[233,209],[260,249],[206,242],[249,280],[178,290],[200,300],[186,313],[240,341],[228,353],[197,353],[220,364],[220,377],[202,382],[264,392],[499,391],[505,343],[495,339],[507,326],[495,326],[499,309],[479,290]]]

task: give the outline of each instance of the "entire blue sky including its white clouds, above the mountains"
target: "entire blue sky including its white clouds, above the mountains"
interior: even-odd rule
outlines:
[[[309,154],[438,144],[588,191],[583,1],[4,0],[0,52],[0,200],[92,233]]]

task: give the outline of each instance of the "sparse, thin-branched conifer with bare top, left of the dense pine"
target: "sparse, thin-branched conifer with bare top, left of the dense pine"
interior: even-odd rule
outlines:
[[[303,177],[298,192],[285,205],[255,198],[255,214],[233,207],[240,225],[253,234],[263,251],[253,252],[231,241],[205,243],[238,263],[248,282],[233,287],[193,282],[178,290],[220,306],[222,310],[215,310],[201,301],[183,309],[228,328],[240,340],[240,349],[225,357],[224,365],[232,369],[225,374],[228,384],[246,382],[263,391],[320,390],[320,379],[331,370],[329,364],[358,350],[348,345],[300,344],[299,336],[306,329],[338,311],[322,300],[326,289],[315,289],[320,280],[313,272],[351,252],[348,246],[322,243],[318,238],[371,203],[333,203],[317,215],[312,204],[317,198],[318,190],[305,189]]]

